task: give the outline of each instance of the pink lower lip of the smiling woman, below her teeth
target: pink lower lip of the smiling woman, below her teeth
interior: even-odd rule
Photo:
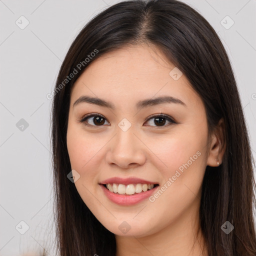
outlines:
[[[125,194],[118,194],[118,193],[113,193],[110,192],[104,185],[99,184],[100,187],[103,189],[104,194],[106,197],[111,200],[114,203],[120,204],[120,205],[132,205],[136,204],[146,198],[148,198],[158,186],[155,186],[151,188],[150,190],[140,192],[140,193],[134,193],[130,195],[125,195]]]

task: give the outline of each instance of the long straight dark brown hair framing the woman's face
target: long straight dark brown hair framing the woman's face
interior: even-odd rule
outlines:
[[[54,214],[60,255],[115,255],[114,234],[94,217],[67,178],[71,170],[66,145],[70,90],[85,68],[102,54],[142,42],[157,46],[187,77],[205,105],[209,132],[221,117],[224,120],[226,151],[222,164],[207,166],[202,183],[199,217],[208,255],[255,256],[253,160],[233,71],[211,25],[177,0],[131,0],[108,7],[82,28],[64,58],[51,114]],[[95,49],[97,53],[84,61]],[[74,69],[77,73],[63,85]],[[220,228],[225,221],[234,226],[228,234]]]

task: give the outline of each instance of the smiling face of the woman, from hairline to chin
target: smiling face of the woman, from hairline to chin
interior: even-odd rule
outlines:
[[[156,233],[199,207],[206,113],[174,67],[152,45],[126,47],[93,61],[72,88],[66,140],[74,185],[116,235]]]

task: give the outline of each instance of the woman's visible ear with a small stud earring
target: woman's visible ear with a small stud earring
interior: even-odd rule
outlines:
[[[221,118],[211,135],[207,165],[217,167],[222,163],[226,149],[225,124]],[[219,164],[218,164],[219,163]]]

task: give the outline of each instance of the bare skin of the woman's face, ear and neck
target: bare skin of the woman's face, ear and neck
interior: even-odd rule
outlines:
[[[116,256],[208,255],[202,250],[200,230],[196,237],[198,210],[205,168],[218,166],[216,157],[221,164],[222,123],[208,134],[202,100],[184,74],[177,80],[169,75],[173,68],[153,45],[125,47],[93,61],[71,91],[66,139],[71,167],[80,175],[74,184],[95,217],[115,234]],[[109,101],[115,109],[88,102],[73,107],[82,95]],[[136,108],[139,100],[159,96],[172,96],[184,104]],[[79,122],[89,113],[100,114],[102,124],[93,117]],[[176,123],[163,119],[157,125],[157,115],[147,120],[160,113]],[[123,118],[131,124],[126,131],[118,126]],[[185,163],[188,167],[172,178]],[[147,179],[165,190],[151,201],[118,205],[98,184],[114,176]],[[125,234],[118,228],[123,221],[130,226]]]

